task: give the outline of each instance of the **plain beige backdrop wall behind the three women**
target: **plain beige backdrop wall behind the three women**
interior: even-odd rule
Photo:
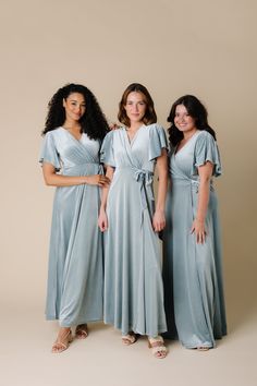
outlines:
[[[38,307],[44,318],[53,189],[37,159],[49,98],[83,83],[115,121],[125,86],[140,82],[166,128],[183,94],[208,107],[224,169],[217,190],[229,328],[240,328],[254,315],[257,287],[257,2],[1,0],[0,13],[3,314]]]

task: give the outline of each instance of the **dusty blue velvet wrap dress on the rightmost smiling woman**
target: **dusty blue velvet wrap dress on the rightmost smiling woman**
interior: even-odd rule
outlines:
[[[206,242],[197,244],[195,234],[191,234],[198,201],[197,167],[206,161],[213,164],[213,176],[221,174],[216,141],[206,131],[197,131],[178,153],[171,152],[163,232],[166,311],[169,334],[171,337],[175,334],[174,313],[179,339],[186,348],[215,347],[215,339],[227,334],[220,227],[212,182]]]

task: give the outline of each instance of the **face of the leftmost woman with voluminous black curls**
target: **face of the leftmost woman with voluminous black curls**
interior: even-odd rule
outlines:
[[[63,99],[66,119],[79,121],[86,111],[86,101],[82,94],[72,93],[66,99]]]

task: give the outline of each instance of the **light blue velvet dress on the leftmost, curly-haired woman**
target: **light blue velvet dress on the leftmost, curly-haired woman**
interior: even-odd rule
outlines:
[[[77,141],[64,128],[44,138],[40,162],[63,176],[102,172],[99,141]],[[57,188],[49,251],[46,317],[69,327],[102,319],[103,256],[98,230],[100,194],[96,185]]]

